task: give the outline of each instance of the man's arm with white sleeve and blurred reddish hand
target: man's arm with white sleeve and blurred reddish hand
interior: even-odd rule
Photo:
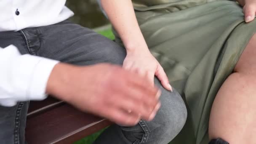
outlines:
[[[121,124],[152,120],[160,92],[145,78],[112,64],[78,67],[0,48],[0,105],[42,100],[45,93]],[[132,111],[132,113],[130,113]]]

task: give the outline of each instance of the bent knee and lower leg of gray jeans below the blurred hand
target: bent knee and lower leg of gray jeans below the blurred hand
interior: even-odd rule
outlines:
[[[152,121],[141,120],[132,127],[112,125],[94,144],[168,144],[183,128],[187,109],[179,93],[165,90],[159,80],[155,84],[162,91],[160,107]]]

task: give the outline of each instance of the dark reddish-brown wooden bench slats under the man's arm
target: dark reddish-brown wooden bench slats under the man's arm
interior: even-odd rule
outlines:
[[[26,141],[28,144],[72,144],[111,124],[48,97],[44,101],[30,102]]]

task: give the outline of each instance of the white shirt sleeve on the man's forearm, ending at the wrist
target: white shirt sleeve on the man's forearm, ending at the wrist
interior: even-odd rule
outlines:
[[[0,105],[11,107],[17,101],[45,99],[48,78],[58,62],[21,55],[13,45],[0,48]]]

